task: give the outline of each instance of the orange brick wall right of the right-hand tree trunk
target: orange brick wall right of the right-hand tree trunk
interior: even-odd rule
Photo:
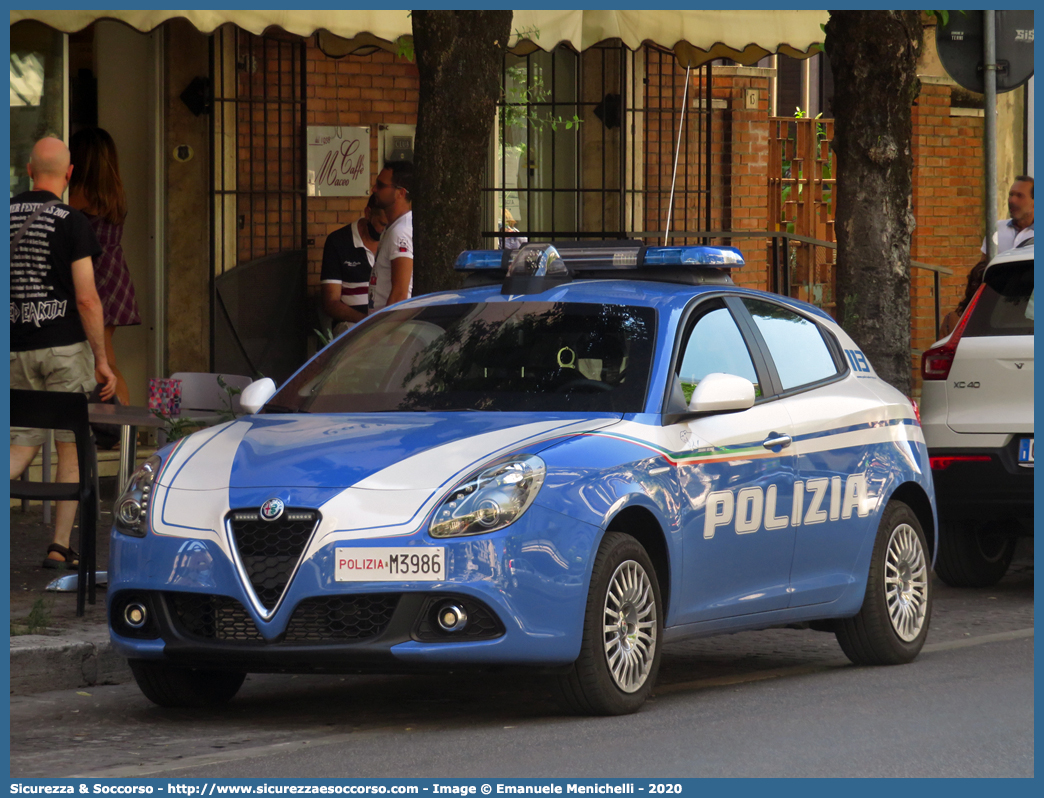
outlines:
[[[983,152],[981,116],[952,109],[951,87],[922,81],[914,108],[914,215],[910,258],[952,268],[941,279],[945,315],[964,297],[968,273],[982,242]],[[972,114],[972,115],[968,115]],[[921,353],[936,338],[935,298],[930,272],[910,275],[910,369],[921,393]]]

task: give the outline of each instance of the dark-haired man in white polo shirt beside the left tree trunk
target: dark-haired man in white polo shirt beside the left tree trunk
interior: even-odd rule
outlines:
[[[384,210],[388,226],[370,277],[370,312],[413,294],[413,164],[388,161],[374,183],[377,206]]]

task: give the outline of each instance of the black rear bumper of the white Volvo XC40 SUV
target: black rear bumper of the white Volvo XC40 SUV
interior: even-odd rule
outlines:
[[[990,457],[988,462],[956,461],[946,468],[932,469],[942,520],[1033,519],[1034,469],[1019,465],[1019,441],[1022,437],[1015,436],[999,448],[928,450],[931,457]]]

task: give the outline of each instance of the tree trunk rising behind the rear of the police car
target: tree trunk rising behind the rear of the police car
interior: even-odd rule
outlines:
[[[911,107],[920,11],[830,11],[837,318],[892,385],[910,390]]]

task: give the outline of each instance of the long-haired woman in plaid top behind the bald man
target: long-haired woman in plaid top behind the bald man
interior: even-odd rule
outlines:
[[[69,149],[73,164],[69,205],[87,214],[101,244],[101,255],[94,261],[94,283],[105,318],[105,357],[116,373],[120,404],[129,404],[127,383],[116,365],[113,333],[117,327],[141,324],[141,313],[120,243],[127,201],[120,180],[116,142],[100,127],[87,127],[72,137]]]

